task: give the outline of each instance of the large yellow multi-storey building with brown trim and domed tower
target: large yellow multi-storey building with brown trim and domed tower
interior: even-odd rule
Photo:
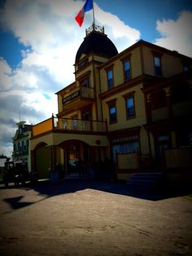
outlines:
[[[139,153],[156,168],[164,149],[190,146],[190,57],[143,40],[118,53],[93,24],[74,66],[75,82],[56,93],[57,116],[33,126],[32,168],[40,177],[57,164],[75,172],[79,157],[87,174],[102,175],[120,153]],[[120,169],[117,178],[126,179],[129,171]]]

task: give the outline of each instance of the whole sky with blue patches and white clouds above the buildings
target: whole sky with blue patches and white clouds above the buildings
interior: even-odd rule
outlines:
[[[0,0],[0,154],[11,157],[18,121],[58,113],[55,92],[74,82],[76,51],[93,23],[81,0]],[[95,0],[95,23],[123,51],[146,40],[192,57],[192,1]]]

